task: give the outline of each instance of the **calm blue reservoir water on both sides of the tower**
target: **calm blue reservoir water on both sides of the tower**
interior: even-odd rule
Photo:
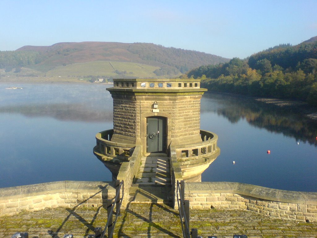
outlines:
[[[112,85],[10,86],[0,83],[0,187],[111,181],[92,150],[95,134],[113,128]],[[317,122],[296,110],[207,92],[201,129],[216,133],[221,149],[203,182],[317,192]]]

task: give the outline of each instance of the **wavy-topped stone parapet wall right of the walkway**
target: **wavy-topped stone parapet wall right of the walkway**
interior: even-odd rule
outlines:
[[[259,214],[317,221],[317,193],[264,188],[236,182],[185,182],[191,209],[243,209]]]

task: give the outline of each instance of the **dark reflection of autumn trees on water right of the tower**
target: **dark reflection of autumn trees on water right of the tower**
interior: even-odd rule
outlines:
[[[304,109],[301,106],[280,107],[258,102],[252,98],[218,93],[207,93],[204,97],[216,100],[220,106],[211,109],[206,105],[202,107],[202,112],[214,110],[232,123],[245,118],[249,124],[255,127],[283,133],[285,136],[291,136],[296,140],[317,146],[317,122],[303,116],[301,112]]]

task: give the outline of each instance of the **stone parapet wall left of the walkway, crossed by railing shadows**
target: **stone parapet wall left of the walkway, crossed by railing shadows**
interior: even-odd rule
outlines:
[[[107,199],[115,197],[113,185],[111,182],[60,181],[0,188],[0,216],[44,208],[107,206]]]

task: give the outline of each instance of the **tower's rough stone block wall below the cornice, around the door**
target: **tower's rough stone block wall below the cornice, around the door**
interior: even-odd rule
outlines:
[[[168,136],[174,141],[199,140],[201,96],[113,96],[113,131],[116,135],[141,138],[141,117],[144,113],[171,115]],[[153,102],[159,113],[152,112]],[[194,136],[194,137],[193,137]]]

